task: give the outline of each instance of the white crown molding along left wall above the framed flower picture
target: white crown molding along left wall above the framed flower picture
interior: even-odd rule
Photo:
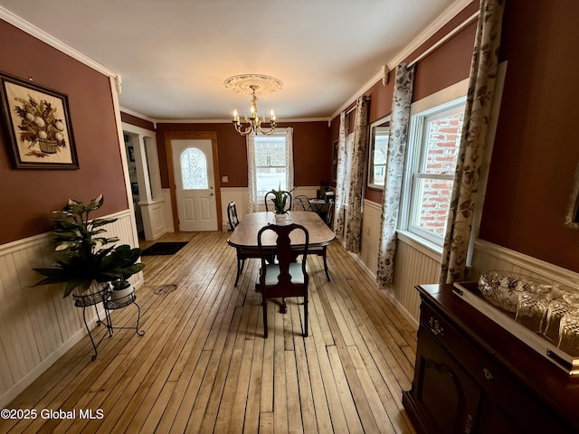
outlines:
[[[39,39],[42,42],[48,43],[53,48],[57,49],[64,54],[68,54],[71,58],[84,63],[85,65],[89,66],[95,71],[99,71],[101,74],[104,74],[108,77],[113,77],[118,82],[118,86],[120,84],[120,75],[109,68],[101,65],[97,61],[93,61],[90,57],[82,54],[81,52],[75,50],[70,45],[56,39],[54,36],[50,35],[49,33],[44,32],[42,29],[39,29],[34,24],[30,24],[25,21],[23,18],[19,17],[18,15],[10,12],[5,7],[0,6],[0,19],[4,20],[6,23],[14,25],[18,29],[32,35],[36,39]]]

